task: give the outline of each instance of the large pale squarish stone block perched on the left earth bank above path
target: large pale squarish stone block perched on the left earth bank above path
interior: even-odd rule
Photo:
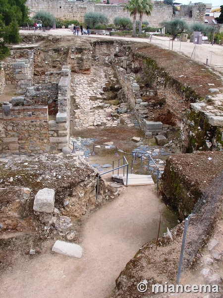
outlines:
[[[52,188],[40,189],[35,196],[33,210],[53,213],[55,203],[55,190]]]

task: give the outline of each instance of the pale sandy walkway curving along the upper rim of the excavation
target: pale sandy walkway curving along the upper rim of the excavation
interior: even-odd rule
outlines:
[[[52,29],[46,32],[42,31],[19,31],[22,34],[44,34],[44,35],[61,35],[61,36],[69,36],[73,39],[75,38],[107,38],[113,40],[129,40],[129,41],[137,41],[137,42],[148,42],[150,43],[150,38],[133,38],[133,37],[118,37],[118,36],[108,36],[108,35],[95,35],[90,34],[89,36],[86,35],[73,35],[70,29]],[[171,50],[172,48],[172,41],[168,37],[155,37],[153,36],[151,43],[156,44],[164,49]],[[179,42],[177,40],[173,41],[173,51],[178,52],[180,55],[184,55],[191,60],[195,60],[206,65],[207,57],[208,57],[208,67],[211,67],[213,70],[220,72],[223,74],[223,46],[219,46],[214,44],[204,44],[196,45],[196,49],[194,51],[194,44],[187,42]],[[195,53],[194,53],[195,52]]]

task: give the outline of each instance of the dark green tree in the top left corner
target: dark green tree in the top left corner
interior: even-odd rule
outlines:
[[[0,0],[0,60],[9,55],[7,44],[17,44],[19,26],[28,20],[26,0]]]

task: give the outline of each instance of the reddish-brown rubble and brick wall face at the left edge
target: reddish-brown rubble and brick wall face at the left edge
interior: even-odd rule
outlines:
[[[5,107],[10,106],[0,108],[0,151],[53,152],[49,141],[48,107],[10,107],[8,113],[5,113]]]

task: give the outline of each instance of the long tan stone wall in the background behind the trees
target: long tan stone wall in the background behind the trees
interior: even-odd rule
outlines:
[[[40,3],[38,0],[27,0],[26,5],[31,11],[36,12],[39,10]],[[192,6],[192,18],[188,17],[186,8],[183,8],[183,12],[180,13],[179,17],[189,23],[204,22],[205,9],[203,11],[200,9],[200,6],[198,7],[197,5]],[[201,5],[201,3],[199,3],[199,5]],[[202,5],[206,7],[205,4]],[[123,4],[95,4],[92,2],[81,1],[45,0],[41,3],[41,10],[49,11],[54,14],[56,18],[63,20],[77,19],[78,21],[83,22],[84,14],[86,12],[95,11],[106,15],[109,19],[109,23],[113,23],[115,16],[129,17],[133,21],[133,17],[130,16],[130,13],[127,10],[123,10]],[[148,21],[149,26],[151,27],[160,27],[161,21],[170,21],[173,17],[172,7],[170,5],[154,4],[151,16],[143,15],[143,21]]]

